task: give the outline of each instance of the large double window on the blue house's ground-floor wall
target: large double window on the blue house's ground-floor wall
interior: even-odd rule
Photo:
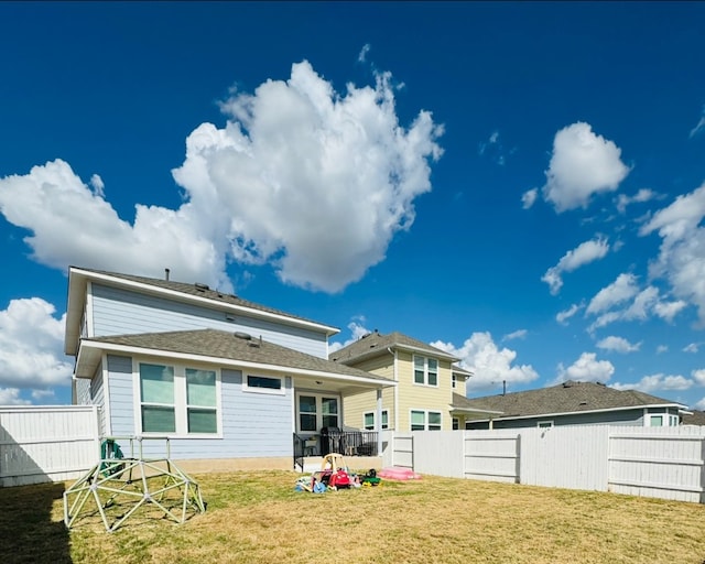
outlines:
[[[139,377],[142,433],[218,433],[215,370],[140,362]]]

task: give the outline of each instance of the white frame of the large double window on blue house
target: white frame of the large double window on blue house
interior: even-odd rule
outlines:
[[[174,432],[152,432],[142,429],[142,390],[140,365],[156,365],[170,367],[174,371]],[[216,429],[215,433],[189,433],[188,432],[188,408],[198,408],[188,405],[186,393],[186,369],[207,370],[216,375]],[[197,362],[170,362],[163,358],[140,358],[132,360],[132,397],[134,398],[134,430],[140,436],[167,436],[170,438],[223,438],[223,405],[221,395],[221,375],[218,368],[204,366]],[[156,403],[148,402],[148,404],[156,405]],[[166,404],[165,404],[166,405]],[[171,404],[169,404],[171,405]]]

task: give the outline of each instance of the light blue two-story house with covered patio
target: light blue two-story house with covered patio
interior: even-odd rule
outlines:
[[[169,436],[191,468],[289,469],[343,426],[346,394],[373,391],[381,412],[394,382],[328,360],[337,332],[167,272],[68,271],[73,402],[100,408],[105,436]]]

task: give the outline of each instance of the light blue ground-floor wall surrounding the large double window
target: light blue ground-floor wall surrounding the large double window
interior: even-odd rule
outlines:
[[[135,361],[149,359],[138,358]],[[160,360],[164,361],[164,360]],[[108,357],[110,389],[110,421],[112,436],[135,435],[140,406],[134,390],[138,384],[137,362],[129,357]],[[198,368],[198,366],[194,366]],[[214,367],[208,367],[213,369]],[[284,377],[285,393],[268,394],[242,390],[242,373],[238,370],[220,370],[220,422],[221,437],[170,438],[170,457],[187,459],[241,459],[286,458],[293,456],[293,388],[292,379]],[[126,456],[131,452],[128,440],[119,440]],[[133,443],[139,452],[139,443]],[[142,442],[143,455],[166,456],[165,442]]]

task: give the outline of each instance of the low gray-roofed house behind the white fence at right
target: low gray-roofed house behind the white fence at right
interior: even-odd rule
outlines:
[[[681,403],[636,390],[567,381],[550,388],[485,398],[454,397],[457,409],[477,413],[465,429],[518,429],[554,425],[676,426],[690,413]]]

